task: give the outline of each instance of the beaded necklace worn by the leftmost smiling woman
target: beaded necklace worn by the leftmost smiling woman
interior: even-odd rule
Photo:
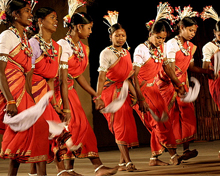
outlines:
[[[21,36],[19,34],[19,31],[17,28],[15,28],[14,26],[9,27],[9,30],[11,30],[18,38],[19,42],[21,43],[21,50],[24,50],[24,53],[28,56],[28,57],[32,57],[32,48],[28,42],[28,38],[26,35],[26,32],[24,30],[23,35],[24,38],[21,39]]]

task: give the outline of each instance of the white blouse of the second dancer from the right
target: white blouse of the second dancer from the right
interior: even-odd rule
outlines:
[[[175,38],[172,38],[167,42],[167,58],[169,59],[169,62],[175,62],[176,53],[179,50],[180,47]],[[194,59],[192,58],[190,62],[194,62]]]

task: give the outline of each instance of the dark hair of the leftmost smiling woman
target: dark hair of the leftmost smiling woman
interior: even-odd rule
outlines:
[[[6,14],[6,19],[7,22],[14,22],[14,19],[12,17],[12,13],[14,11],[19,12],[19,10],[21,10],[22,8],[26,7],[26,5],[28,4],[28,2],[24,1],[24,0],[12,0],[6,7],[5,10],[5,14]]]

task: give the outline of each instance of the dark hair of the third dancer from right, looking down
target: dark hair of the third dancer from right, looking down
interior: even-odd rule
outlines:
[[[161,32],[167,32],[169,33],[171,31],[171,26],[166,20],[159,20],[156,23],[152,25],[151,28],[148,29],[150,33],[161,33]]]

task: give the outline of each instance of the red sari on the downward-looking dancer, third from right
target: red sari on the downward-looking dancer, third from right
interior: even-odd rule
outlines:
[[[161,51],[163,51],[162,46]],[[141,92],[145,101],[158,117],[161,117],[163,111],[167,112],[167,106],[160,94],[158,86],[154,83],[158,72],[162,68],[162,64],[163,62],[156,63],[154,59],[150,58],[147,63],[141,67],[138,74]],[[148,86],[147,84],[149,83],[154,83],[154,85]],[[169,121],[165,123],[157,122],[153,119],[150,112],[143,114],[138,108],[138,105],[134,106],[143,124],[151,133],[152,155],[157,156],[162,154],[165,148],[176,148],[171,123]]]

